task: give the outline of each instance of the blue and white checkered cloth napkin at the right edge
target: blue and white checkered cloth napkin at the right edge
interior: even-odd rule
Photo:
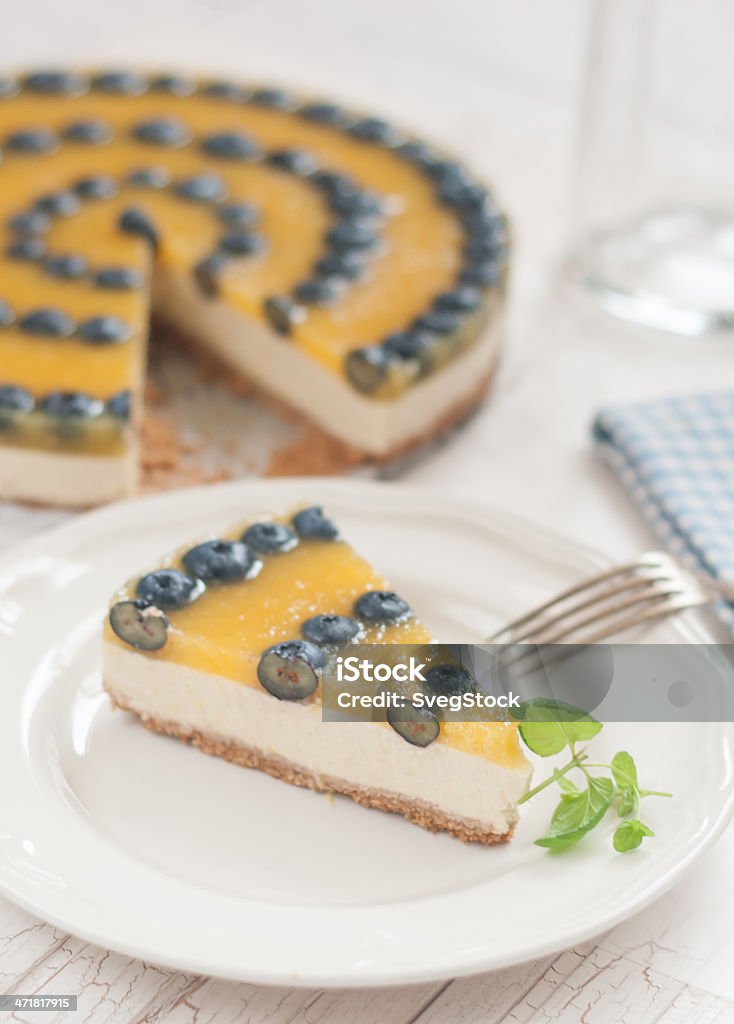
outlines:
[[[593,430],[662,543],[734,581],[734,391],[602,410]],[[721,612],[734,628],[734,607]]]

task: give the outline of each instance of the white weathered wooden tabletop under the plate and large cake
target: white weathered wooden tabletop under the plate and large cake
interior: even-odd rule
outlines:
[[[487,410],[408,476],[543,515],[622,557],[650,538],[594,460],[593,412],[734,386],[734,339],[639,334],[570,301],[559,283],[584,16],[582,0],[25,0],[3,27],[0,57],[261,73],[348,95],[464,152],[515,219],[508,355]],[[62,517],[0,507],[0,550]],[[79,995],[78,1015],[12,1018],[44,1024],[734,1022],[732,863],[734,828],[673,893],[596,942],[397,990],[272,989],[177,974],[89,945],[0,898],[0,991]]]

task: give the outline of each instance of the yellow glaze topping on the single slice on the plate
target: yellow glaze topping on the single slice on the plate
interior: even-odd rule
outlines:
[[[288,522],[289,517],[276,517]],[[239,539],[249,523],[227,531]],[[179,568],[181,557],[200,538],[153,568]],[[245,686],[260,687],[257,666],[262,652],[282,640],[298,639],[301,624],[312,615],[353,616],[355,600],[368,590],[390,589],[344,541],[301,540],[291,551],[264,555],[256,577],[242,583],[209,584],[205,592],[183,608],[166,611],[169,631],[158,651],[136,651],[144,657],[183,665],[199,672],[223,676]],[[113,602],[135,596],[136,578],[126,584]],[[364,630],[363,644],[425,644],[431,634],[418,618]],[[104,624],[104,641],[131,648]],[[275,697],[272,698],[276,699]],[[338,726],[334,725],[334,728]],[[389,726],[385,726],[390,728]],[[508,722],[442,722],[436,742],[508,768],[525,763],[517,728]]]

